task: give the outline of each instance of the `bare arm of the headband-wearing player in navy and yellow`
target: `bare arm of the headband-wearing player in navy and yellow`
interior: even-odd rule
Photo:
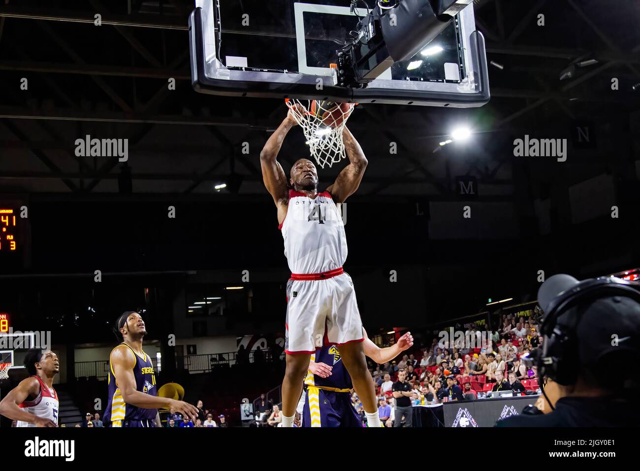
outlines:
[[[136,388],[136,376],[133,374],[133,368],[136,366],[136,357],[125,345],[120,345],[111,352],[111,365],[113,366],[113,376],[116,378],[116,384],[120,389],[120,393],[122,393],[122,399],[125,403],[143,409],[171,409],[172,413],[179,412],[193,420],[198,417],[198,409],[191,404],[138,391]]]

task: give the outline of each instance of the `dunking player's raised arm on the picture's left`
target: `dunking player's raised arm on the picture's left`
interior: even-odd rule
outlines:
[[[294,119],[291,110],[289,114],[282,121],[282,124],[276,129],[275,133],[269,137],[267,143],[264,145],[264,149],[260,152],[260,167],[262,167],[262,180],[264,186],[267,187],[269,194],[273,197],[273,201],[278,206],[278,221],[284,220],[286,209],[282,213],[282,219],[280,219],[280,207],[286,208],[287,204],[287,176],[282,170],[282,165],[278,163],[278,153],[282,147],[284,138],[289,133],[289,129],[296,126],[296,120]]]

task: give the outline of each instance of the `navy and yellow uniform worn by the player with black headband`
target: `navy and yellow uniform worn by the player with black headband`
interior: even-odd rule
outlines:
[[[154,372],[154,365],[151,362],[151,358],[144,353],[144,351],[144,357],[136,354],[126,343],[120,343],[120,345],[125,345],[136,357],[136,365],[133,367],[133,375],[136,377],[136,390],[143,394],[156,396],[156,372]],[[118,345],[118,347],[120,347],[120,345]],[[104,411],[103,419],[105,427],[122,427],[122,423],[127,420],[154,420],[154,418],[156,418],[158,413],[157,409],[143,409],[124,402],[122,392],[120,392],[120,388],[118,388],[118,384],[116,383],[110,354],[108,388],[109,402]]]

